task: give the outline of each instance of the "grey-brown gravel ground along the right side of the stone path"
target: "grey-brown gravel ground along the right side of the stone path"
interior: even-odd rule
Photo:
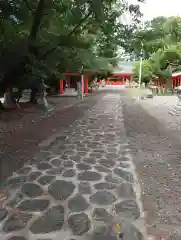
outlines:
[[[148,233],[156,240],[180,240],[181,148],[173,125],[165,126],[174,117],[167,118],[168,110],[160,105],[153,112],[148,101],[143,108],[126,96],[122,99],[125,127],[142,187]]]

